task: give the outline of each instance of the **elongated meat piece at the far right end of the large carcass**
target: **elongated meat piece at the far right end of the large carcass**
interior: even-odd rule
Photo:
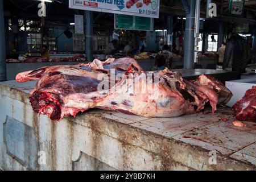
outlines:
[[[194,83],[201,86],[207,86],[216,91],[218,94],[218,104],[227,104],[233,96],[232,92],[226,88],[220,80],[217,80],[213,76],[201,75]]]

